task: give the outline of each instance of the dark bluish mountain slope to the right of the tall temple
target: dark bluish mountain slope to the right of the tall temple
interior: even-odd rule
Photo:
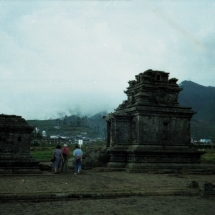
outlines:
[[[197,112],[191,121],[193,138],[215,140],[215,87],[205,87],[192,81],[183,81],[180,87],[183,90],[179,93],[179,104],[192,107]]]

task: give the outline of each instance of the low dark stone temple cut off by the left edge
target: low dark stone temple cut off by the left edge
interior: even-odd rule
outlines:
[[[0,174],[41,173],[30,155],[33,130],[20,116],[0,115]]]

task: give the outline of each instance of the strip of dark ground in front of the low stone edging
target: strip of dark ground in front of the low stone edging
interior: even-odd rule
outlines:
[[[214,215],[214,197],[147,196],[1,204],[1,215]]]

